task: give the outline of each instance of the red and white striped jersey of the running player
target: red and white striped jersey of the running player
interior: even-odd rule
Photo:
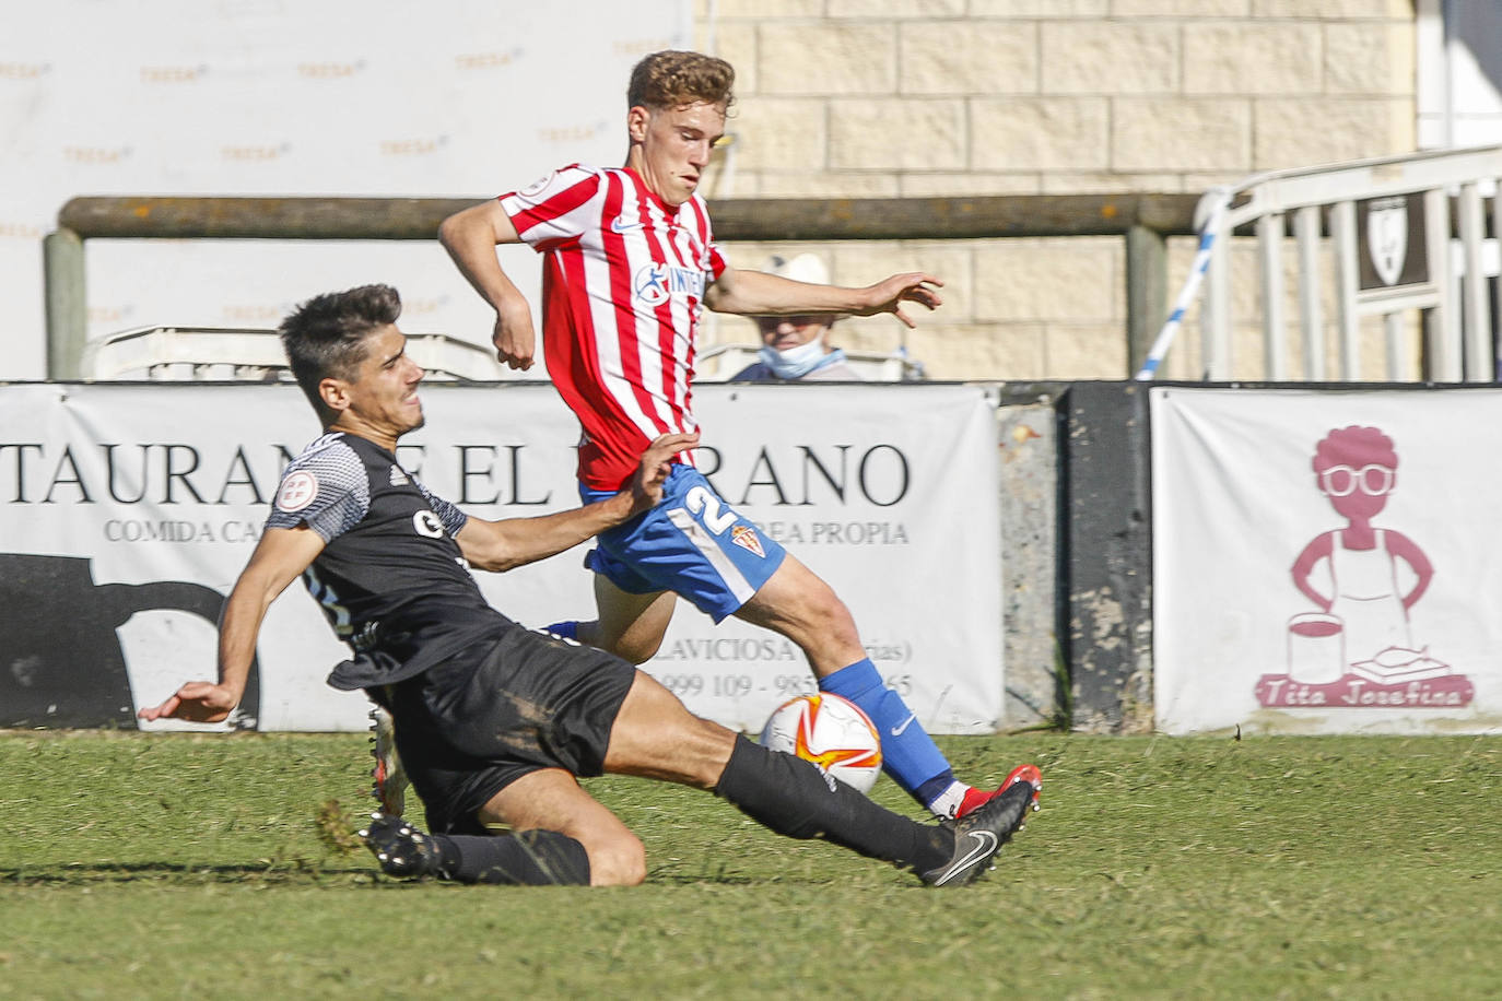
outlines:
[[[725,270],[709,210],[698,195],[670,209],[632,170],[578,164],[500,206],[544,254],[542,351],[583,429],[578,477],[617,489],[652,438],[698,428],[694,345],[704,287]]]

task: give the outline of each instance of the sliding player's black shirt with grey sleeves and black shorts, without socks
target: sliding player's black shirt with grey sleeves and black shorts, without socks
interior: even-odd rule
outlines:
[[[434,831],[529,771],[599,774],[629,663],[532,632],[491,608],[455,540],[469,516],[386,449],[351,434],[287,467],[267,528],[324,540],[308,593],[353,657],[329,675],[397,717],[397,747]]]

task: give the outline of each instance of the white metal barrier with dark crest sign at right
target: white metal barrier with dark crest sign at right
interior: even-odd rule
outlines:
[[[1241,227],[1253,227],[1257,239],[1263,378],[1292,378],[1284,308],[1284,245],[1292,218],[1302,380],[1494,381],[1491,311],[1499,303],[1487,285],[1484,200],[1491,201],[1491,231],[1499,234],[1499,179],[1502,147],[1482,147],[1274,171],[1206,194],[1196,213],[1208,251],[1200,312],[1205,378],[1235,378],[1229,237]],[[1365,225],[1358,228],[1358,219]],[[1334,254],[1335,374],[1326,372],[1323,233]],[[1415,353],[1404,350],[1403,314],[1415,309],[1427,314],[1427,371],[1415,369]],[[1373,315],[1383,318],[1380,372],[1373,359],[1364,363],[1361,351],[1361,320]],[[1164,351],[1178,318],[1182,309],[1164,327]],[[1152,378],[1155,371],[1157,365],[1145,366],[1139,378]]]

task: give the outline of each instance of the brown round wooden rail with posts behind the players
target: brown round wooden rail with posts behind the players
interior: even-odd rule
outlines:
[[[984,240],[1119,236],[1126,242],[1128,372],[1163,323],[1167,237],[1193,236],[1196,195],[978,198],[725,198],[715,237],[740,240]],[[48,378],[80,377],[87,338],[84,242],[431,240],[478,198],[74,198],[44,239]]]

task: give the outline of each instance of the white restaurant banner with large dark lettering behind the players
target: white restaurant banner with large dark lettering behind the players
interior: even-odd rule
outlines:
[[[430,384],[424,408],[427,426],[398,458],[440,497],[493,519],[578,504],[578,426],[550,386]],[[1000,527],[984,392],[700,386],[695,408],[700,468],[834,585],[918,719],[993,731]],[[219,605],[282,468],[318,431],[288,384],[0,387],[0,726],[131,726],[140,705],[215,677]],[[476,578],[526,626],[593,618],[586,549]],[[300,584],[273,603],[257,654],[230,725],[365,726],[363,696],[324,684],[348,653]],[[737,620],[715,626],[685,602],[644,669],[695,713],[746,731],[813,690],[790,642]]]

